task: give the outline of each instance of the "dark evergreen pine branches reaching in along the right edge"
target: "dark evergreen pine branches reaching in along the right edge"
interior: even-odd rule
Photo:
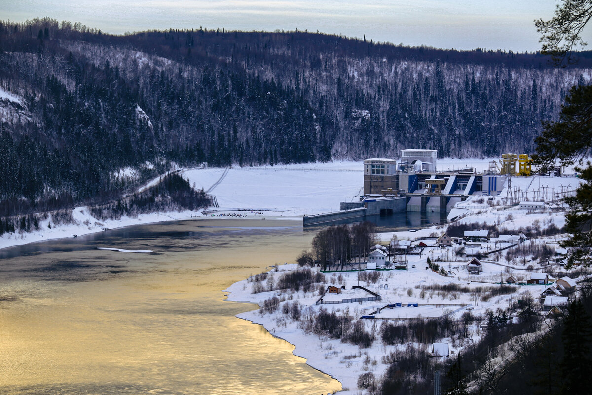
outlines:
[[[555,17],[549,21],[538,20],[536,27],[543,36],[542,52],[550,54],[555,65],[574,63],[574,47],[585,46],[581,32],[592,18],[592,0],[563,0]],[[590,265],[586,258],[592,246],[592,165],[582,168],[583,158],[592,150],[592,85],[583,85],[582,79],[570,90],[561,108],[561,120],[543,123],[543,133],[535,139],[537,155],[535,165],[542,170],[559,159],[562,165],[578,163],[576,171],[581,172],[583,184],[575,196],[566,199],[571,211],[567,216],[566,228],[573,236],[563,243],[574,248],[568,257],[568,265]]]

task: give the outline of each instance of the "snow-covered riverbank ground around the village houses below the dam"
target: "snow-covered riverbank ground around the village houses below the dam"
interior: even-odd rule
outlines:
[[[571,188],[580,182],[575,178],[517,178],[513,184],[522,188],[525,197],[534,197],[541,187],[554,186]],[[540,193],[540,192],[539,192]],[[504,196],[504,192],[501,194]],[[520,210],[519,207],[505,207],[501,198],[493,201],[480,197],[472,197],[463,205],[466,207],[465,216],[455,223],[480,223],[496,226],[498,230],[517,235],[521,230],[529,232],[546,232],[549,229],[560,229],[565,224],[565,213],[559,206],[549,207],[544,212]],[[507,243],[504,238],[494,237],[489,242],[476,246],[482,253],[489,253],[503,249],[499,253],[491,253],[482,259],[482,272],[469,275],[467,271],[468,256],[457,255],[459,246],[440,248],[435,244],[435,238],[446,231],[448,225],[435,225],[419,230],[403,232],[385,232],[379,234],[381,243],[388,243],[392,236],[397,240],[427,239],[427,247],[420,254],[401,256],[406,259],[407,270],[379,271],[378,278],[373,280],[362,276],[360,272],[326,272],[320,282],[315,282],[307,291],[298,291],[278,287],[285,283],[285,276],[298,270],[295,264],[279,265],[271,271],[253,276],[247,280],[231,285],[224,292],[229,293],[228,300],[256,303],[259,310],[248,311],[237,315],[240,319],[262,325],[272,335],[285,339],[295,346],[294,354],[307,359],[307,364],[319,371],[331,375],[342,383],[343,394],[361,394],[365,391],[358,388],[358,378],[361,374],[372,372],[379,379],[390,365],[391,352],[400,352],[411,345],[432,354],[433,343],[446,343],[450,357],[458,355],[464,348],[480,341],[483,329],[480,327],[487,322],[487,314],[492,311],[510,311],[510,306],[516,306],[518,300],[534,300],[539,306],[539,296],[548,285],[509,285],[500,288],[496,284],[506,282],[513,277],[517,282],[526,282],[531,273],[562,271],[558,264],[546,265],[535,256],[536,251],[546,251],[551,254],[548,258],[558,261],[562,249],[558,241],[564,239],[565,234],[549,236],[539,235],[529,237],[523,243]],[[554,231],[556,232],[556,231]],[[430,241],[431,240],[431,241]],[[417,242],[416,242],[417,243]],[[287,260],[295,257],[287,257]],[[437,262],[448,274],[432,271],[427,267],[427,259]],[[319,271],[311,268],[313,277]],[[369,273],[372,271],[364,271]],[[572,278],[578,274],[568,273]],[[581,275],[581,274],[580,274]],[[259,284],[259,285],[256,285]],[[343,288],[340,296],[333,295],[333,299],[347,300],[358,298],[360,290],[352,289],[361,285],[371,293],[379,294],[379,301],[355,301],[349,303],[317,304],[323,291],[334,285]],[[257,293],[253,291],[257,290]],[[261,292],[262,290],[266,290]],[[367,296],[372,294],[368,293]],[[328,296],[324,297],[329,300]],[[399,304],[397,306],[397,304]],[[396,306],[396,307],[393,307]],[[294,314],[294,309],[300,314]],[[539,309],[540,307],[537,307]],[[379,310],[382,309],[382,310]],[[516,309],[516,307],[513,307]],[[350,317],[350,323],[361,322],[362,330],[374,338],[372,345],[365,348],[350,341],[333,338],[327,333],[320,333],[315,320],[322,310],[335,313],[338,317]],[[520,310],[513,310],[517,314]],[[381,327],[384,323],[406,322],[408,319],[442,319],[448,317],[453,321],[462,322],[461,317],[474,317],[466,328],[466,335],[440,335],[431,342],[407,342],[396,345],[388,344],[381,339]],[[375,319],[361,320],[363,315],[375,316]],[[502,315],[503,316],[503,315]],[[500,316],[500,317],[502,317]],[[510,314],[507,319],[516,322],[516,315]],[[500,318],[501,319],[501,318]],[[408,321],[407,321],[408,322]],[[317,326],[316,326],[317,325]],[[461,324],[458,324],[461,325]],[[315,329],[317,328],[317,329]],[[445,361],[446,357],[436,359]]]

